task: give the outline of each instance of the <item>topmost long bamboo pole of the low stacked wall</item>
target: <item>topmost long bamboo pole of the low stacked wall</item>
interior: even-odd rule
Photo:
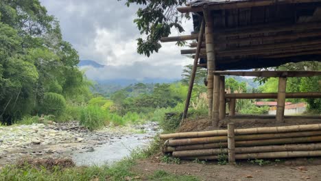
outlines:
[[[282,132],[307,132],[307,131],[318,131],[321,130],[321,124],[311,125],[288,125],[278,127],[265,127],[265,128],[246,128],[236,129],[236,135],[242,134],[266,134],[266,133],[282,133]],[[172,134],[160,134],[160,138],[199,138],[206,136],[226,136],[226,130],[212,130],[206,132],[178,132]]]

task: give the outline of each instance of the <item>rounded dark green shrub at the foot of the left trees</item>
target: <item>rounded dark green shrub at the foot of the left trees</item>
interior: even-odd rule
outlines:
[[[66,100],[57,93],[45,93],[40,104],[40,114],[53,114],[59,117],[66,109]]]

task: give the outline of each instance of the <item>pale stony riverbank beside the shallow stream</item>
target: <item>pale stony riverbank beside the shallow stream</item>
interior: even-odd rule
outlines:
[[[150,140],[156,134],[157,128],[156,123],[150,122],[127,127],[110,126],[90,132],[77,121],[0,127],[0,167],[30,157],[79,159],[83,153],[95,152],[106,145],[108,147],[104,152],[108,152],[109,145],[120,143],[121,140]],[[119,145],[117,147],[119,149]]]

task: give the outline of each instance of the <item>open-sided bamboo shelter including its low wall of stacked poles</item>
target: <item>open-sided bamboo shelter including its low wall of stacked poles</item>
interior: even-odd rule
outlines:
[[[194,40],[189,45],[190,49],[182,49],[180,52],[181,54],[191,54],[194,58],[189,93],[183,117],[187,115],[195,72],[198,67],[207,69],[209,118],[212,120],[214,128],[217,128],[219,121],[228,119],[228,121],[233,122],[233,118],[239,117],[235,115],[236,99],[276,99],[276,116],[272,117],[271,120],[277,124],[283,123],[286,119],[284,116],[286,98],[321,98],[320,91],[313,93],[286,93],[285,91],[287,77],[320,76],[321,71],[246,71],[249,69],[276,67],[288,62],[321,62],[321,0],[201,0],[193,1],[185,7],[179,7],[178,11],[181,13],[192,13],[195,31],[189,35],[163,37],[161,41]],[[226,75],[278,77],[278,92],[226,93],[224,81],[224,76]],[[229,110],[226,117],[227,104]],[[255,118],[261,119],[259,116]],[[246,117],[246,119],[250,118]],[[298,117],[297,119],[321,120],[320,117]],[[320,125],[315,126],[318,127],[316,130],[320,132]],[[173,154],[184,158],[196,158],[195,156],[199,156],[198,158],[217,158],[215,155],[218,152],[217,143],[226,141],[226,145],[225,143],[223,144],[224,147],[227,147],[226,152],[233,150],[233,152],[228,152],[228,154],[232,154],[232,156],[234,154],[233,157],[235,159],[235,145],[242,147],[250,145],[259,146],[255,143],[261,143],[261,138],[268,138],[265,140],[266,144],[263,144],[263,148],[236,148],[238,150],[237,153],[239,153],[236,155],[236,158],[249,158],[244,156],[244,153],[253,154],[254,152],[250,150],[265,150],[264,153],[257,153],[257,155],[263,156],[252,155],[252,157],[250,156],[251,158],[278,158],[271,155],[281,157],[302,156],[302,150],[308,150],[310,156],[313,156],[313,154],[315,154],[314,156],[321,156],[321,149],[318,148],[321,143],[313,146],[284,145],[287,143],[313,142],[313,144],[316,144],[314,143],[315,141],[321,142],[320,134],[316,133],[315,130],[313,131],[313,129],[308,129],[305,133],[302,133],[300,128],[294,130],[296,135],[294,137],[309,139],[311,136],[313,138],[317,136],[318,138],[313,139],[313,141],[307,141],[304,138],[305,141],[301,142],[289,140],[289,138],[293,139],[294,132],[292,131],[290,132],[291,134],[286,134],[287,136],[285,137],[276,137],[280,136],[281,133],[277,131],[278,127],[275,127],[276,131],[272,132],[249,132],[250,135],[258,134],[259,136],[270,134],[270,137],[263,135],[261,138],[256,136],[254,138],[252,135],[245,138],[251,143],[245,143],[244,139],[240,141],[237,136],[234,136],[234,134],[237,134],[234,125],[230,124],[229,127],[230,129],[224,130],[224,133],[211,134],[211,136],[207,134],[200,136],[204,132],[194,132],[163,135],[161,137],[168,139],[166,142],[167,151],[176,152]],[[310,137],[305,137],[307,132],[309,132]],[[182,138],[188,140],[181,140]],[[283,140],[271,140],[276,138]],[[176,141],[175,139],[178,140]],[[253,141],[253,139],[259,141]],[[263,141],[263,143],[265,142]],[[274,149],[270,147],[272,143],[283,144],[283,148],[278,147],[278,149]],[[266,145],[269,145],[269,147]],[[305,148],[300,149],[302,147]],[[311,147],[313,149],[309,149]],[[202,152],[199,151],[200,149],[202,149]],[[207,149],[206,152],[203,152],[204,149]],[[193,152],[181,154],[182,151],[185,152],[186,150]],[[269,154],[272,150],[280,152],[278,154]],[[167,151],[165,150],[165,152]],[[298,153],[289,154],[287,151],[296,151]],[[318,154],[315,151],[318,151]],[[309,156],[307,153],[305,152],[303,155]]]

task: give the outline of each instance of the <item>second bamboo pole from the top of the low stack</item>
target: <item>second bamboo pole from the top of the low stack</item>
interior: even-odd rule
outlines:
[[[306,137],[306,136],[320,136],[321,131],[310,131],[310,132],[286,132],[286,133],[273,133],[273,134],[248,134],[248,135],[237,135],[235,140],[239,141],[238,143],[250,144],[248,142],[256,141],[268,141],[269,139],[274,140],[281,138],[297,138],[297,137]],[[211,136],[211,137],[202,137],[202,138],[182,138],[182,139],[173,139],[166,142],[167,145],[176,146],[176,145],[194,145],[202,143],[220,143],[228,141],[228,136]],[[241,142],[243,141],[243,142]],[[271,143],[272,143],[271,142]],[[279,141],[276,141],[279,142]]]

